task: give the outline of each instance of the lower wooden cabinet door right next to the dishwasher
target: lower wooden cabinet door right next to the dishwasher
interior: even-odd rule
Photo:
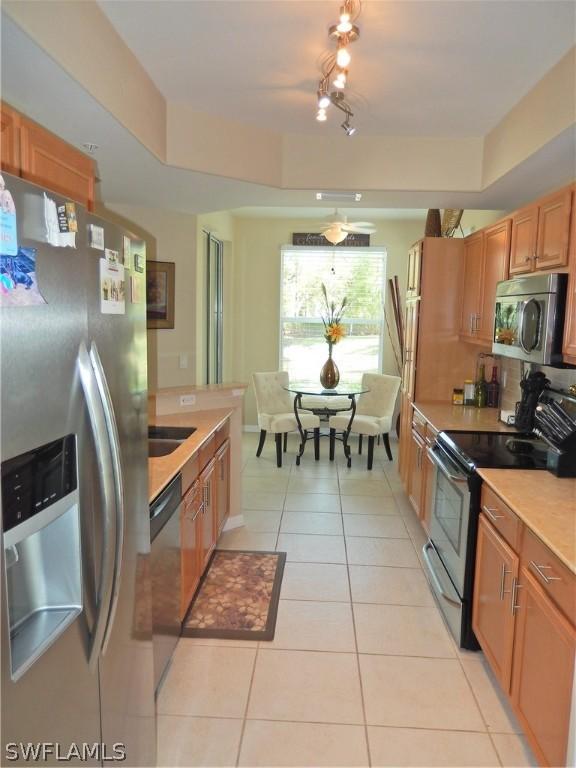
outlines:
[[[188,606],[202,576],[203,510],[203,488],[200,481],[196,480],[184,497],[180,524],[181,620],[184,619],[188,611]]]

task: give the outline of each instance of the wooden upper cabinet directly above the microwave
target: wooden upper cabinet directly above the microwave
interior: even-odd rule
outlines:
[[[513,214],[511,275],[568,264],[571,208],[572,190],[567,188]]]

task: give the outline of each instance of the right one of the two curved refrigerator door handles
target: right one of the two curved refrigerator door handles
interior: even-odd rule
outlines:
[[[120,592],[120,574],[122,571],[122,552],[124,547],[124,480],[122,476],[120,438],[118,436],[116,415],[114,413],[114,406],[112,403],[112,397],[110,396],[110,389],[108,388],[106,374],[104,372],[104,367],[102,366],[102,361],[100,360],[98,347],[96,346],[95,341],[92,341],[92,344],[90,345],[90,360],[92,362],[92,368],[94,370],[98,391],[100,393],[100,399],[102,401],[102,407],[104,409],[110,453],[114,467],[114,491],[116,496],[116,552],[114,558],[112,599],[110,601],[108,621],[106,624],[106,630],[104,632],[104,639],[102,641],[101,652],[104,654],[106,653],[106,648],[108,647],[108,642],[110,641],[110,634],[114,624],[114,616],[116,614],[116,607],[118,606],[118,596]]]

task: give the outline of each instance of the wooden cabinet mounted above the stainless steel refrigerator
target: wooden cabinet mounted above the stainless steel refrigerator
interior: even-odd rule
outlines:
[[[94,209],[94,162],[6,104],[2,110],[2,169]]]

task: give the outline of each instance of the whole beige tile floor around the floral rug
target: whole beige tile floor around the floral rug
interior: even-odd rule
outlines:
[[[162,766],[527,766],[479,653],[460,651],[428,589],[423,534],[396,473],[284,466],[243,441],[245,526],[219,547],[283,550],[272,642],[181,639],[158,699]],[[393,448],[396,446],[393,445]],[[395,452],[395,451],[394,451]]]

